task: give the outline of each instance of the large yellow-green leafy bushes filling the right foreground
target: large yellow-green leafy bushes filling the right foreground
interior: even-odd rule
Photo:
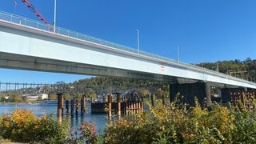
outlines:
[[[212,110],[198,105],[186,110],[177,103],[158,102],[149,112],[135,114],[108,126],[106,143],[255,143],[255,110],[241,104],[227,109],[214,103]],[[255,103],[254,103],[255,104]]]

